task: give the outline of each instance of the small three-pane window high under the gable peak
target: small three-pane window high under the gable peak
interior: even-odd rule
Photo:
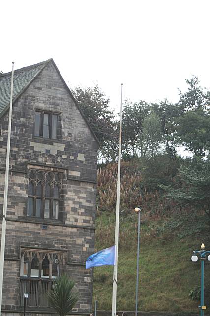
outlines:
[[[43,138],[58,138],[58,114],[37,110],[34,135]]]

